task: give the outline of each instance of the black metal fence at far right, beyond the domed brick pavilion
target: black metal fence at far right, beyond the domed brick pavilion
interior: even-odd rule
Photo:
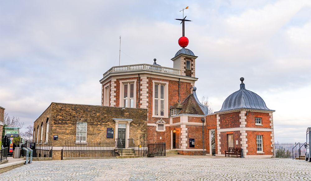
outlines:
[[[305,143],[274,143],[273,157],[274,158],[300,158],[305,156]]]

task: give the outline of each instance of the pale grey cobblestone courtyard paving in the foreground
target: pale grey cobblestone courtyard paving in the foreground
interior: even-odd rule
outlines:
[[[194,156],[34,161],[0,180],[311,180],[311,163]]]

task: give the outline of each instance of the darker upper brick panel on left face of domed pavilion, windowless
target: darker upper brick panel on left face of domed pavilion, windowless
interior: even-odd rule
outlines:
[[[240,127],[240,112],[220,114],[220,129]]]

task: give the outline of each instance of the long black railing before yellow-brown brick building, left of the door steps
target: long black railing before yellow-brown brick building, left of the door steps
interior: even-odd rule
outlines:
[[[115,157],[119,151],[120,148],[114,141],[66,141],[63,157]]]

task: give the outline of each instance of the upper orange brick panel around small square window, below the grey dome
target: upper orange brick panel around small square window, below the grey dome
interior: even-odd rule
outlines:
[[[269,113],[246,112],[246,127],[271,128]],[[260,117],[263,126],[255,125],[255,117]]]

